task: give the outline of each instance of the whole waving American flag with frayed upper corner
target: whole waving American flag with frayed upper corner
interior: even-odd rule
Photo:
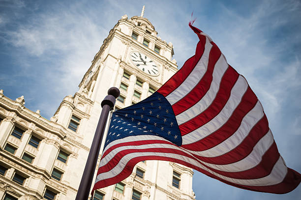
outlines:
[[[286,167],[245,78],[211,38],[149,98],[113,113],[93,190],[120,182],[143,160],[191,167],[239,188],[288,193],[301,175]]]

